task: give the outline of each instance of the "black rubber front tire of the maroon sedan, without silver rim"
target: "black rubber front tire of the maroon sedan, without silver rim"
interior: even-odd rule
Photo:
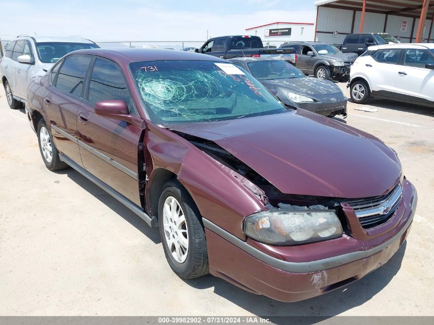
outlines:
[[[163,215],[163,208],[166,200],[171,200],[171,198],[175,198],[182,209],[182,213],[185,217],[186,233],[188,234],[188,249],[186,250],[186,258],[182,262],[177,261],[172,255],[172,250],[169,248],[166,239],[166,235],[171,237],[171,233],[164,230],[163,222],[165,217]],[[169,218],[166,218],[166,221],[171,225],[168,219]],[[158,225],[160,228],[160,237],[163,244],[164,255],[166,256],[167,262],[171,266],[172,270],[179,277],[184,279],[193,279],[210,272],[205,231],[199,210],[190,194],[188,194],[187,190],[177,180],[171,180],[163,186],[158,202]],[[174,231],[172,230],[172,232]],[[173,246],[174,244],[172,245],[172,248],[174,248]]]

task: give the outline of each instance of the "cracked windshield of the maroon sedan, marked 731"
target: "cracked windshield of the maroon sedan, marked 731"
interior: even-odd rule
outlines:
[[[231,120],[285,112],[258,81],[231,63],[130,64],[151,120],[158,124]]]

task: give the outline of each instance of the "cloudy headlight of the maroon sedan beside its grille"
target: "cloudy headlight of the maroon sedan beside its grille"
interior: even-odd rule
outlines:
[[[261,243],[289,246],[341,237],[334,210],[261,211],[244,220],[244,233]]]

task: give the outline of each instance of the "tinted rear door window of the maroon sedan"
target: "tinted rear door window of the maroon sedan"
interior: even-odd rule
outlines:
[[[84,77],[89,68],[90,56],[72,55],[65,59],[57,77],[56,88],[82,97]]]

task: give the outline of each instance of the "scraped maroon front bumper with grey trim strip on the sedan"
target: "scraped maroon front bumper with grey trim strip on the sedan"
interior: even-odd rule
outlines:
[[[323,260],[289,262],[272,257],[203,219],[210,273],[244,290],[287,302],[341,288],[385,264],[405,241],[417,205],[416,189],[409,182],[406,191],[393,235],[375,247]]]

